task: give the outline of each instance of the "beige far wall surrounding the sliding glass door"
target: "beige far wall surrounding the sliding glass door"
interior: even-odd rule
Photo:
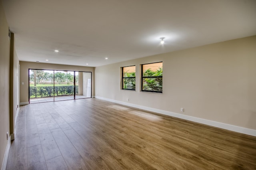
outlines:
[[[20,61],[20,103],[28,103],[28,69],[92,72],[92,95],[94,95],[94,67]],[[22,85],[22,82],[24,85]]]

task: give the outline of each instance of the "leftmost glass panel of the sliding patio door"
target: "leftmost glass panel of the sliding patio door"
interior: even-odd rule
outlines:
[[[29,69],[29,103],[54,101],[54,71]]]

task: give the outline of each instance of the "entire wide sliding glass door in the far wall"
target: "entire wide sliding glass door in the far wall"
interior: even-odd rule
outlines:
[[[29,101],[40,103],[92,97],[92,73],[29,69]]]

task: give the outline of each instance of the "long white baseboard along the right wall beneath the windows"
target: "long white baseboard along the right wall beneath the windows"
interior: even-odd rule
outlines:
[[[135,105],[135,104],[132,104],[132,103],[126,103],[126,102],[117,101],[117,100],[108,99],[108,98],[99,97],[99,96],[95,96],[95,98],[110,101],[110,102],[114,102],[114,103],[118,103],[118,104],[121,104],[121,105],[135,107],[135,108],[138,108],[138,109],[143,109],[143,110],[146,110],[146,111],[160,113],[160,114],[163,114],[163,115],[177,117],[177,118],[180,118],[180,119],[185,119],[185,120],[196,122],[196,123],[202,123],[204,125],[209,125],[209,126],[213,126],[213,127],[223,128],[223,129],[226,129],[226,130],[231,130],[231,131],[234,131],[234,132],[239,132],[239,133],[244,133],[244,134],[256,136],[256,130],[254,130],[254,129],[238,127],[238,126],[234,126],[234,125],[229,125],[229,124],[225,124],[225,123],[210,121],[210,120],[207,120],[207,119],[201,119],[201,118],[198,118],[198,117],[192,117],[192,116],[188,116],[188,115],[182,115],[182,114],[179,114],[179,113],[174,113],[174,112],[169,112],[169,111],[163,111],[163,110],[154,109],[154,108],[151,108],[151,107]]]

